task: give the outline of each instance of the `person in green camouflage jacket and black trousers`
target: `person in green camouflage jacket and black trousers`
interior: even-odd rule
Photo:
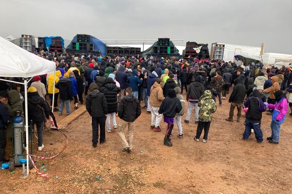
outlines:
[[[212,98],[212,93],[210,90],[206,90],[203,96],[200,97],[199,107],[199,123],[197,127],[197,134],[194,139],[199,141],[202,130],[204,129],[204,137],[202,141],[207,142],[208,132],[212,121],[212,114],[215,113],[217,109],[216,102]]]

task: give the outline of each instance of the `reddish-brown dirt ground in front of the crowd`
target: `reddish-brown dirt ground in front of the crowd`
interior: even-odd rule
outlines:
[[[230,104],[222,101],[223,106],[218,106],[214,114],[207,143],[194,141],[197,125],[193,112],[190,123],[183,123],[183,139],[177,137],[175,126],[172,147],[163,145],[164,131],[149,129],[151,114],[143,109],[135,123],[130,154],[121,151],[116,130],[106,132],[105,144],[92,148],[91,121],[84,113],[63,129],[69,141],[65,151],[54,160],[36,161],[38,168],[44,164],[49,178],[31,170],[28,178],[21,179],[20,167],[14,175],[1,170],[0,193],[291,194],[292,117],[287,115],[281,125],[279,145],[265,140],[271,134],[271,116],[265,113],[263,143],[257,144],[253,134],[248,141],[242,141],[244,117],[240,123],[225,121]],[[185,112],[186,107],[187,103]],[[165,129],[163,122],[161,128]],[[63,147],[64,136],[45,130],[45,147],[40,152],[36,151],[36,141],[35,138],[35,154],[52,156]]]

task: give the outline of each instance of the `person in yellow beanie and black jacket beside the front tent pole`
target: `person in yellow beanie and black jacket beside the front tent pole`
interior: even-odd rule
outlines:
[[[37,88],[29,87],[27,90],[28,120],[33,121],[33,127],[37,126],[37,148],[41,151],[43,144],[43,128],[45,119],[49,119],[50,109],[47,102],[39,96]]]

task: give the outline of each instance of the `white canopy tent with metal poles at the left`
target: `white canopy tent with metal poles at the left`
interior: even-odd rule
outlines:
[[[15,82],[24,85],[25,93],[25,136],[26,136],[26,165],[27,175],[29,174],[29,157],[28,157],[28,113],[27,113],[27,83],[28,78],[55,72],[55,62],[43,59],[33,53],[30,53],[17,45],[0,37],[0,77],[21,77],[24,83]],[[55,76],[54,76],[55,77]],[[55,87],[55,79],[54,79]]]

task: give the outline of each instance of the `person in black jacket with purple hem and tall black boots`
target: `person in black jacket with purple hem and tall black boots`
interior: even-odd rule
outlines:
[[[182,108],[181,101],[176,97],[175,90],[169,89],[167,97],[164,98],[158,110],[158,113],[163,114],[164,116],[164,123],[167,123],[164,136],[165,146],[172,146],[170,136],[174,126],[174,117],[177,113],[182,111]]]

